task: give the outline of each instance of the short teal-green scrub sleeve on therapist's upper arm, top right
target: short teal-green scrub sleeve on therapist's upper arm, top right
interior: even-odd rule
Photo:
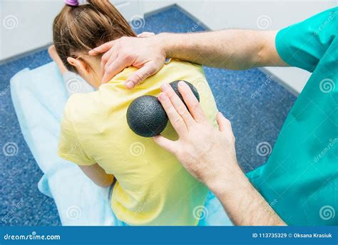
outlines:
[[[290,66],[312,72],[337,36],[338,7],[278,31],[275,45]]]

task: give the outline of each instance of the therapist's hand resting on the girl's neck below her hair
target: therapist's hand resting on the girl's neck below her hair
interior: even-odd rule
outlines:
[[[138,37],[123,36],[89,51],[93,56],[102,53],[105,53],[101,58],[103,83],[108,82],[128,66],[140,68],[128,76],[126,80],[128,89],[158,72],[164,65],[166,56],[161,41],[151,32],[143,32]]]

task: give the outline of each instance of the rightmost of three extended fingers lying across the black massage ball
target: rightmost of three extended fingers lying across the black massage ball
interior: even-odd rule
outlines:
[[[179,81],[178,91],[182,95],[183,100],[185,101],[185,104],[188,106],[190,114],[193,115],[195,121],[197,122],[206,121],[206,117],[202,110],[202,107],[200,106],[200,103],[198,102],[198,99],[196,98],[195,94],[193,94],[193,91],[191,91],[190,86],[188,86],[188,84],[186,84],[184,81]]]

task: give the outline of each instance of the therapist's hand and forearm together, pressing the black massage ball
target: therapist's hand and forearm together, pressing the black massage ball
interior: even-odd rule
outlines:
[[[155,142],[175,154],[190,174],[215,193],[234,224],[285,225],[237,164],[230,121],[219,113],[219,130],[215,129],[206,119],[189,86],[180,81],[178,89],[191,114],[171,86],[163,85],[164,92],[158,99],[179,139],[170,141],[163,136],[155,136]]]

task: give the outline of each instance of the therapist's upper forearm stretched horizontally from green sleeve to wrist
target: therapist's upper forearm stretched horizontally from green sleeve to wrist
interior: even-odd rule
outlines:
[[[223,69],[285,66],[275,49],[276,31],[228,29],[196,34],[159,34],[168,57]]]

